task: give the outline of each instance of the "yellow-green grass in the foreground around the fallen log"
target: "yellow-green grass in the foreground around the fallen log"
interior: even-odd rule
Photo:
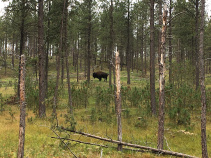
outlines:
[[[16,157],[18,147],[18,128],[19,128],[19,108],[12,106],[12,111],[15,112],[15,120],[12,122],[11,116],[8,113],[8,109],[0,115],[0,157]],[[81,109],[75,111],[75,119],[77,120],[77,130],[91,133],[94,135],[117,139],[117,125],[115,121],[112,123],[105,123],[96,121],[91,123],[89,121],[88,111],[90,109]],[[134,109],[135,110],[135,109]],[[51,126],[48,118],[50,117],[51,110],[48,110],[48,117],[45,120],[40,120],[35,115],[27,110],[26,118],[26,141],[25,141],[25,156],[26,157],[70,157],[70,152],[61,147],[61,142],[56,139],[50,138],[56,136],[49,127]],[[60,115],[66,113],[65,109],[58,110],[59,124],[65,126],[64,118]],[[84,120],[81,119],[84,116]],[[115,115],[112,116],[115,120]],[[32,121],[31,121],[32,119]],[[150,146],[156,148],[157,142],[157,120],[156,118],[147,118],[147,128],[135,127],[134,123],[138,120],[137,117],[131,117],[130,119],[124,118],[122,121],[123,127],[123,141],[134,144],[140,144],[143,146]],[[208,134],[208,151],[211,150],[210,133],[211,125],[210,120],[207,123]],[[165,149],[176,152],[186,153],[194,156],[201,156],[200,146],[200,119],[194,120],[195,126],[188,130],[186,127],[175,127],[166,119],[165,126]],[[66,134],[57,133],[62,137]],[[91,138],[79,136],[77,134],[71,134],[71,139],[81,140],[84,142],[98,143],[115,147],[110,143],[102,142],[99,140],[93,140]],[[168,144],[166,144],[166,142]],[[80,145],[70,142],[70,149],[76,155],[84,155],[86,157],[99,157],[101,148],[88,145]],[[158,157],[153,154],[141,154],[136,152],[123,152],[118,153],[115,149],[103,149],[105,157]]]

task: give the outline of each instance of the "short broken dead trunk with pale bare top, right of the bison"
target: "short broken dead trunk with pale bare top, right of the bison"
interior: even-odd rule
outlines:
[[[122,123],[121,123],[121,83],[120,83],[120,57],[119,52],[116,52],[116,113],[118,125],[118,141],[122,142]],[[118,151],[122,151],[122,144],[118,144]]]

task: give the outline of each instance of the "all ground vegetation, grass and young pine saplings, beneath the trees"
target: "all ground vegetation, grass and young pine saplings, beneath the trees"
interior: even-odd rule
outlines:
[[[147,152],[123,150],[118,152],[117,145],[89,137],[69,133],[55,128],[59,126],[68,129],[90,133],[96,136],[117,140],[117,118],[115,112],[114,86],[109,87],[109,81],[93,79],[88,84],[84,81],[84,73],[79,73],[76,82],[76,72],[71,67],[71,96],[73,101],[73,115],[68,111],[68,91],[66,78],[60,83],[57,120],[52,117],[53,95],[55,90],[55,64],[50,59],[48,93],[45,100],[47,116],[39,119],[38,114],[38,80],[34,73],[34,60],[28,63],[26,76],[26,141],[25,157],[77,157],[87,158],[156,158],[164,157]],[[200,136],[200,91],[192,86],[191,68],[182,69],[182,76],[174,74],[173,84],[166,82],[165,87],[165,139],[164,149],[201,157]],[[175,66],[175,69],[178,69]],[[103,70],[108,72],[108,70]],[[19,131],[19,105],[16,98],[17,80],[12,77],[13,70],[8,69],[8,75],[0,80],[0,157],[16,157]],[[15,73],[14,73],[15,74]],[[156,72],[157,74],[157,72]],[[0,72],[4,75],[4,72]],[[168,76],[167,76],[168,77]],[[156,76],[156,79],[158,77]],[[190,82],[189,82],[190,81]],[[149,74],[142,76],[141,72],[131,72],[131,85],[127,85],[127,73],[121,72],[121,101],[122,101],[122,133],[123,141],[157,148],[158,104],[159,89],[156,80],[156,108],[157,115],[151,115]],[[207,85],[207,147],[211,151],[211,85],[210,78],[206,78]],[[91,146],[73,141],[65,144],[55,138],[57,135],[82,142],[106,145],[108,148]],[[71,151],[70,151],[71,150]],[[210,154],[210,153],[209,153]],[[170,157],[170,156],[165,156]]]

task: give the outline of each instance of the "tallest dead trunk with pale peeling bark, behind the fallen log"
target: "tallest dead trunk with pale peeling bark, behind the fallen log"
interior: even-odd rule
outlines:
[[[164,7],[163,12],[163,26],[161,33],[160,46],[160,64],[159,64],[159,118],[158,118],[158,149],[163,149],[164,140],[164,107],[165,107],[165,43],[166,43],[166,29],[167,29],[167,6]]]

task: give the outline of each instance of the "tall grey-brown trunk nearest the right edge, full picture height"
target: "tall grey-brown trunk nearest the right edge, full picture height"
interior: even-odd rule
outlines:
[[[199,78],[201,86],[201,145],[202,158],[208,158],[207,140],[206,140],[206,91],[205,91],[205,73],[204,73],[204,12],[205,0],[201,0],[201,24],[199,38]]]

